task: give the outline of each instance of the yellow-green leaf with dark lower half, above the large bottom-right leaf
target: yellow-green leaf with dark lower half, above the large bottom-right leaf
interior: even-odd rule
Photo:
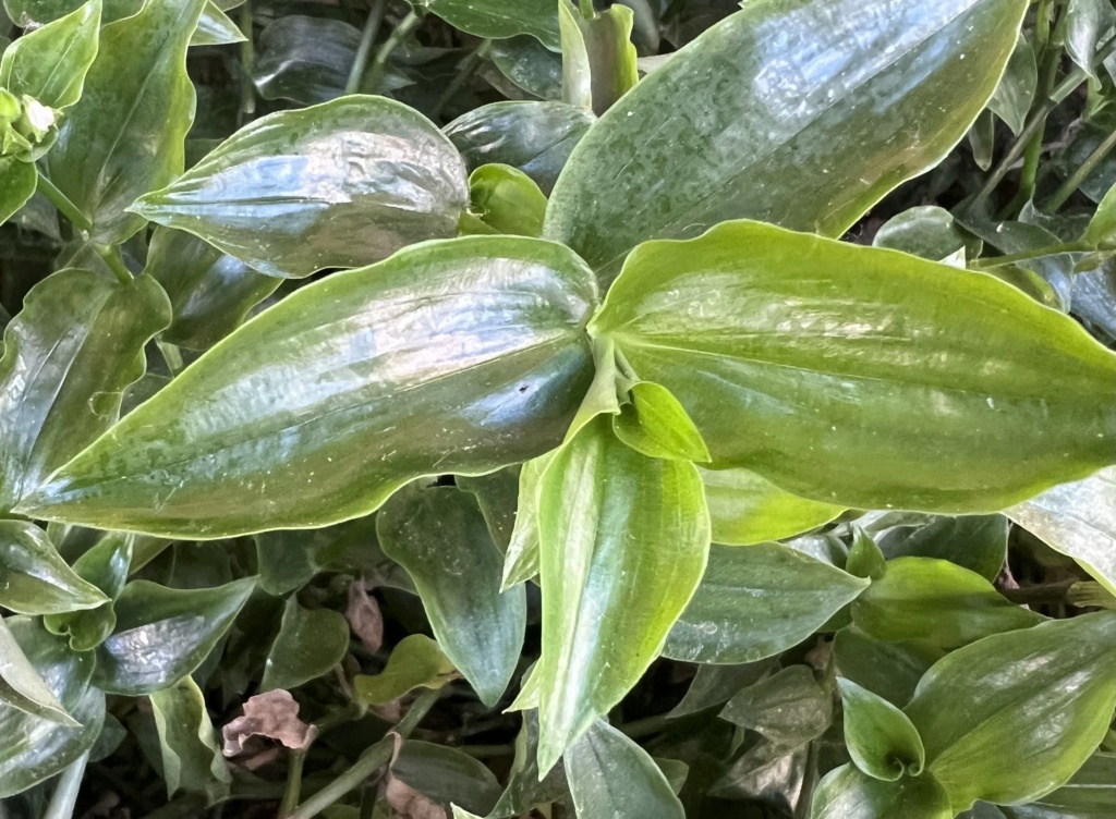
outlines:
[[[896,558],[853,604],[857,628],[877,639],[925,639],[955,648],[1043,620],[980,575],[947,560]]]

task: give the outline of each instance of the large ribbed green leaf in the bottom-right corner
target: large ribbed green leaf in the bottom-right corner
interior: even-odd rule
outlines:
[[[987,637],[939,661],[905,712],[954,811],[1065,784],[1116,707],[1116,613]]]

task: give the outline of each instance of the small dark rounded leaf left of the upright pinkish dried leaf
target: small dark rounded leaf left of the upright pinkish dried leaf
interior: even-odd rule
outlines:
[[[291,691],[328,674],[345,658],[348,637],[344,615],[328,608],[302,608],[291,595],[263,666],[260,691]]]

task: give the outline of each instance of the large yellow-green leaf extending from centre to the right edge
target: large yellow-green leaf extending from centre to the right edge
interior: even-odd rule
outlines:
[[[714,468],[818,501],[989,511],[1116,461],[1116,355],[896,251],[758,222],[647,242],[589,330],[677,397]]]

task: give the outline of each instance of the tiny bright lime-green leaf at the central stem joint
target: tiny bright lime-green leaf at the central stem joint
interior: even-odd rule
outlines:
[[[701,433],[666,387],[639,382],[632,385],[628,395],[629,403],[613,416],[616,437],[647,457],[710,460]]]

